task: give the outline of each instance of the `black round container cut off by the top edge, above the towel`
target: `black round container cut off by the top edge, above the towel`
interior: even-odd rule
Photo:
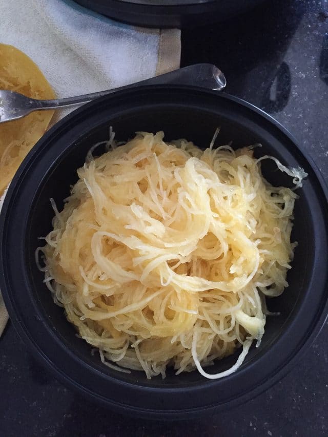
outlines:
[[[118,21],[143,27],[194,27],[221,22],[264,0],[75,0]]]

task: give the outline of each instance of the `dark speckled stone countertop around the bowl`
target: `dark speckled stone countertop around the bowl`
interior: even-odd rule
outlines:
[[[224,24],[182,32],[182,66],[212,62],[227,91],[272,114],[328,177],[328,0],[270,0]],[[280,383],[207,419],[122,417],[58,383],[9,323],[0,339],[0,437],[328,435],[328,326]]]

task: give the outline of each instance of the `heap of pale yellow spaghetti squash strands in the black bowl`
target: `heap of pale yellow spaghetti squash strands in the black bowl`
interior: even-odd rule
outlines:
[[[78,169],[42,248],[55,301],[112,368],[226,376],[261,340],[261,296],[288,285],[297,196],[263,178],[251,148],[161,132],[110,146]],[[278,167],[301,186],[304,172]],[[202,370],[240,344],[231,369]]]

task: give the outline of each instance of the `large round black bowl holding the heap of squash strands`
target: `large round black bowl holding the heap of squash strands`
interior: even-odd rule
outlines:
[[[142,372],[124,374],[102,365],[91,346],[76,337],[63,309],[53,303],[43,284],[34,252],[51,228],[49,198],[59,207],[77,180],[76,169],[92,144],[135,131],[163,130],[166,139],[185,137],[207,147],[217,127],[217,143],[233,147],[260,142],[258,156],[269,154],[308,174],[295,206],[293,268],[290,286],[269,300],[279,316],[267,319],[259,348],[253,346],[240,369],[210,381],[197,371],[151,381]],[[273,184],[290,178],[263,161],[264,176]],[[0,219],[0,287],[10,318],[23,341],[56,376],[89,398],[121,412],[145,418],[187,418],[249,400],[291,368],[308,347],[327,315],[327,190],[314,165],[291,136],[272,118],[249,103],[222,93],[190,87],[144,87],[98,99],[57,123],[33,148],[16,173]],[[210,372],[227,369],[234,356],[218,361]]]

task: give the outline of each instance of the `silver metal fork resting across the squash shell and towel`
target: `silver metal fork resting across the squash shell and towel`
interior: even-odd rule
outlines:
[[[224,74],[213,64],[195,64],[180,68],[170,73],[161,74],[151,79],[141,80],[125,87],[99,91],[82,96],[54,100],[38,100],[14,91],[0,90],[0,123],[25,117],[33,111],[58,109],[67,106],[81,105],[97,97],[142,85],[194,85],[211,90],[222,90],[226,84]]]

